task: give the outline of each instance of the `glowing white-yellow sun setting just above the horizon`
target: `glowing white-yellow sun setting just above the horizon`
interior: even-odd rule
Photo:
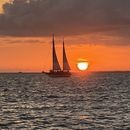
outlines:
[[[85,60],[79,60],[78,63],[77,63],[77,68],[80,70],[80,71],[85,71],[88,69],[88,66],[89,66],[89,63]]]

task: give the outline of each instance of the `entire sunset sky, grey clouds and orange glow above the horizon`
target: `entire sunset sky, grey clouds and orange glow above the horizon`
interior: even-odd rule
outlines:
[[[52,33],[72,71],[130,70],[129,0],[0,0],[0,72],[51,68]]]

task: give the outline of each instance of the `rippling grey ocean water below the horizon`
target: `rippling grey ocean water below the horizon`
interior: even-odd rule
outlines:
[[[130,72],[0,74],[0,130],[130,130]]]

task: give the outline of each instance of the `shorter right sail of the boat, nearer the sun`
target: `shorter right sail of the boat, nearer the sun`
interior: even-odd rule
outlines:
[[[65,52],[64,40],[63,40],[63,70],[64,71],[71,70],[70,66],[69,66],[69,63],[68,63],[68,60],[67,60],[66,52]]]

